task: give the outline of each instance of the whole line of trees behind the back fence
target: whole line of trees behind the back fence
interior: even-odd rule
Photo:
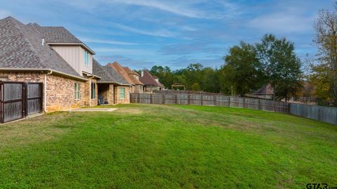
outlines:
[[[245,96],[271,84],[277,100],[315,96],[319,105],[337,106],[337,4],[332,13],[319,11],[314,28],[319,53],[306,73],[293,42],[274,34],[265,34],[256,44],[240,41],[230,47],[219,68],[193,63],[171,70],[155,65],[150,72],[168,89],[181,83],[187,90]]]

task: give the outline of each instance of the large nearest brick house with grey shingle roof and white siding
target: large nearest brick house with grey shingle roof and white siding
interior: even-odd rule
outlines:
[[[45,112],[98,105],[100,96],[103,103],[129,103],[131,85],[109,70],[100,76],[95,52],[64,27],[4,18],[0,49],[0,81],[42,82]]]

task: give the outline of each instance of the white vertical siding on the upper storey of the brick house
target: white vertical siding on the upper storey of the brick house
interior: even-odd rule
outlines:
[[[93,73],[93,56],[89,53],[89,66],[84,65],[85,50],[81,46],[53,45],[53,49],[80,75],[82,75],[82,72]]]

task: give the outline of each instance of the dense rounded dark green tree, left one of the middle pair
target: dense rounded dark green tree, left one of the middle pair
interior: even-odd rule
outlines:
[[[232,46],[225,56],[225,65],[220,69],[222,91],[244,96],[258,89],[263,81],[261,63],[256,57],[256,48],[241,41],[239,46]]]

